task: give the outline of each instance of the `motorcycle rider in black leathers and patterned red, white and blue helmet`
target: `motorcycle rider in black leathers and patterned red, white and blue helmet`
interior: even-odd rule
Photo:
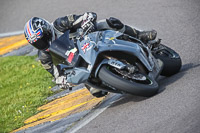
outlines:
[[[38,58],[43,67],[50,72],[56,81],[56,84],[61,88],[68,86],[66,77],[62,75],[59,68],[53,65],[52,58],[48,52],[51,43],[59,38],[65,31],[70,30],[70,38],[77,36],[77,29],[82,28],[87,31],[88,20],[91,20],[95,25],[94,30],[116,30],[130,36],[136,37],[143,42],[148,42],[156,38],[157,32],[152,31],[139,31],[128,25],[124,25],[119,19],[110,17],[108,19],[97,20],[97,14],[94,12],[86,12],[83,15],[70,14],[64,17],[57,18],[53,23],[49,23],[43,18],[33,17],[24,27],[24,34],[28,42],[38,49]],[[95,89],[89,88],[90,92],[97,97],[104,96],[106,93]]]

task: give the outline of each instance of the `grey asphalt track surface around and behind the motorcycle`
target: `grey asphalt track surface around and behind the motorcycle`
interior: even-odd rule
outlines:
[[[117,17],[158,37],[182,58],[181,72],[160,78],[161,93],[151,98],[125,95],[77,132],[200,132],[199,0],[2,0],[0,33],[23,30],[32,16],[53,21],[66,14],[94,11],[98,19]]]

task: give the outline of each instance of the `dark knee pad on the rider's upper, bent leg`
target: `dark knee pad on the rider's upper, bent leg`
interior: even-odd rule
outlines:
[[[124,27],[124,24],[117,18],[110,17],[106,19],[106,22],[111,28],[122,29]]]

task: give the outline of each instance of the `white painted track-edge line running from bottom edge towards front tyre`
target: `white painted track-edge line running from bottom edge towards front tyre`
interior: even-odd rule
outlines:
[[[97,109],[95,109],[92,113],[89,113],[86,117],[83,118],[80,122],[75,124],[70,130],[66,131],[66,133],[75,133],[85,125],[87,125],[90,121],[95,119],[98,115],[100,115],[103,111],[105,111],[108,107],[110,107],[114,102],[119,100],[122,97],[121,94],[113,94],[111,95],[104,103],[102,103]]]

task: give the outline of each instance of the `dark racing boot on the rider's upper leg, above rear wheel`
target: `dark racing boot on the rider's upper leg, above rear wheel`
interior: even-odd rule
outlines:
[[[157,36],[157,31],[142,31],[138,34],[138,39],[140,39],[143,43],[148,43],[149,41],[155,40]]]

